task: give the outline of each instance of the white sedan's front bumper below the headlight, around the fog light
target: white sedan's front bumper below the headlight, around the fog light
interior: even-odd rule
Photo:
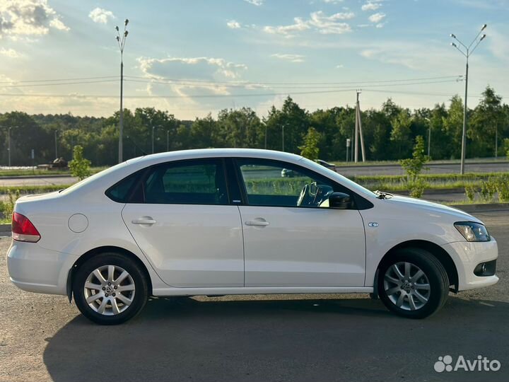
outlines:
[[[476,266],[481,262],[496,260],[498,257],[498,246],[495,239],[491,238],[491,241],[481,243],[457,241],[445,244],[443,248],[455,262],[459,291],[489,287],[498,282],[496,274],[482,277],[474,274]]]

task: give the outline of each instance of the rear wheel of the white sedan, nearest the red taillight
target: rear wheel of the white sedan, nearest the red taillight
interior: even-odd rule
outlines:
[[[144,272],[128,257],[101,253],[78,268],[73,293],[83,316],[100,325],[118,325],[144,308],[148,283]],[[93,299],[96,295],[98,299]]]

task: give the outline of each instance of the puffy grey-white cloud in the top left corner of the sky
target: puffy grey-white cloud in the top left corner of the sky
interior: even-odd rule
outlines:
[[[50,28],[69,30],[47,0],[0,0],[0,37],[47,35]]]

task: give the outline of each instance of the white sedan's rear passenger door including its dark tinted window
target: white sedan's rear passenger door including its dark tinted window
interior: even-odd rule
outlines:
[[[224,161],[153,166],[122,211],[127,228],[172,287],[243,287],[238,207],[230,205]]]

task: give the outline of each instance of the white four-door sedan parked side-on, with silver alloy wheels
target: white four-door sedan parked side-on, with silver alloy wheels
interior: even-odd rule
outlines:
[[[74,296],[100,324],[129,320],[151,295],[370,293],[424,318],[450,290],[498,281],[496,241],[474,216],[276,151],[134,158],[21,197],[12,236],[11,281]]]

